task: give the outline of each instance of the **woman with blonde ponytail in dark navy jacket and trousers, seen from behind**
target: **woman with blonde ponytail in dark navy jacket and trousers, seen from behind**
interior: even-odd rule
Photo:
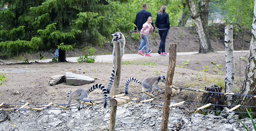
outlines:
[[[165,41],[166,36],[170,29],[170,20],[169,15],[166,13],[167,7],[163,5],[161,9],[158,11],[157,19],[155,20],[155,25],[158,28],[158,33],[161,38],[161,42],[158,49],[158,54],[161,54],[161,56],[166,56],[167,53],[165,52]]]

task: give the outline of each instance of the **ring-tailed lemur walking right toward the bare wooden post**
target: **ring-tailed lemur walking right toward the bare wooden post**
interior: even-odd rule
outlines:
[[[159,92],[161,92],[161,89],[159,88],[159,86],[157,84],[159,82],[166,83],[166,76],[151,76],[151,77],[148,77],[148,78],[144,79],[142,82],[139,81],[138,79],[134,78],[134,77],[130,77],[125,82],[125,86],[124,86],[125,94],[128,94],[129,84],[130,84],[131,81],[134,81],[134,82],[139,83],[140,85],[142,85],[142,89],[145,92],[150,90],[150,91],[148,91],[148,93],[151,94],[153,85],[155,85],[155,87],[158,88]],[[153,94],[151,94],[151,95],[154,96]],[[145,98],[146,94],[143,94],[142,97]]]

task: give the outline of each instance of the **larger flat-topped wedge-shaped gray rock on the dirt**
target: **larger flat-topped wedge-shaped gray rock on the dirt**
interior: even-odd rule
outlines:
[[[94,78],[83,76],[81,74],[66,72],[65,75],[67,85],[85,85],[95,81]]]

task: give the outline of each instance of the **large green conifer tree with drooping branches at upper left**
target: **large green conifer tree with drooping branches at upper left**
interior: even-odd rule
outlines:
[[[120,0],[124,2],[125,0]],[[59,49],[59,60],[75,46],[102,45],[114,31],[132,30],[117,23],[117,2],[105,0],[0,0],[0,56]]]

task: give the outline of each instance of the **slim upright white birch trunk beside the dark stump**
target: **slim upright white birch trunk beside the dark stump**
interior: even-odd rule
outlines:
[[[234,93],[234,48],[233,48],[233,25],[225,27],[225,54],[226,54],[226,78],[225,78],[225,92]],[[231,105],[232,96],[227,95],[227,104]]]

